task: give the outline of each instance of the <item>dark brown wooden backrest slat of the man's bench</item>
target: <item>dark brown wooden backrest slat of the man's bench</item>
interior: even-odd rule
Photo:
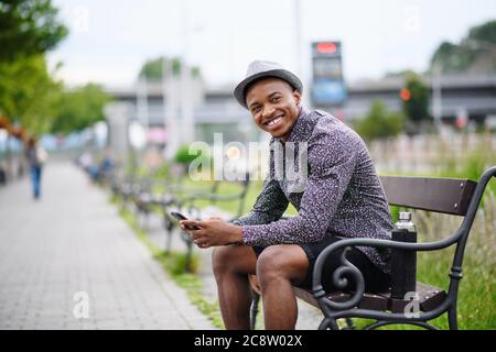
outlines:
[[[393,206],[465,216],[476,182],[456,178],[380,176]]]

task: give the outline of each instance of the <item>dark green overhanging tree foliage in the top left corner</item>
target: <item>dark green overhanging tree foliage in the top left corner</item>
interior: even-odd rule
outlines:
[[[54,48],[67,35],[51,0],[0,0],[0,62]]]

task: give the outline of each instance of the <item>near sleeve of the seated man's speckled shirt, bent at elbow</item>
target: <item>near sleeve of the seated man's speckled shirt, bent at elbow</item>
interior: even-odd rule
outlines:
[[[309,141],[309,177],[298,216],[266,224],[242,224],[244,243],[267,246],[321,241],[354,173],[356,143],[353,133],[316,129]]]

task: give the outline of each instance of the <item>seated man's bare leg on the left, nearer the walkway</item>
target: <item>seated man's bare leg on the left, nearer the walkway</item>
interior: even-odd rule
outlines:
[[[248,274],[255,274],[257,265],[254,250],[241,245],[218,246],[214,249],[212,263],[226,329],[248,330],[251,305]]]

